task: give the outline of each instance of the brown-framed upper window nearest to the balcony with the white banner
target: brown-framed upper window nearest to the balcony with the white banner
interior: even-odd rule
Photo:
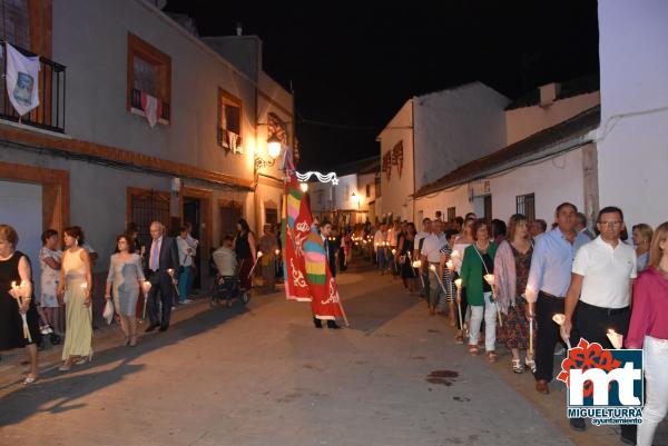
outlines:
[[[171,58],[128,33],[128,100],[134,113],[144,115],[144,98],[157,99],[158,122],[169,122]]]

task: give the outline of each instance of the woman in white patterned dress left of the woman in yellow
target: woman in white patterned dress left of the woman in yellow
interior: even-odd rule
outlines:
[[[57,289],[60,280],[60,260],[62,251],[58,249],[58,231],[47,229],[41,236],[42,248],[39,251],[41,267],[41,289],[38,310],[42,321],[52,329],[51,344],[61,343],[65,336],[65,308],[58,301]]]

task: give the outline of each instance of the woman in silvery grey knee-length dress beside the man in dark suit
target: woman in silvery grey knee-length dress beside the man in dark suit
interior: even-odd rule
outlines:
[[[137,321],[135,317],[137,299],[145,283],[141,269],[141,256],[135,252],[131,238],[121,234],[116,238],[118,252],[109,261],[109,275],[105,299],[111,299],[114,289],[114,307],[120,316],[120,328],[125,335],[124,346],[137,345]]]

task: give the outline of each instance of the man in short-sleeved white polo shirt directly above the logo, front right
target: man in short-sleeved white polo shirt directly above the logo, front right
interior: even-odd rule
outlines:
[[[612,346],[607,334],[613,329],[627,336],[631,290],[637,276],[636,251],[619,238],[625,228],[621,209],[612,206],[601,209],[597,227],[600,236],[576,254],[561,335],[564,339],[572,338],[572,345],[581,337],[603,348],[619,348]],[[571,330],[573,325],[576,330]],[[570,424],[574,430],[584,430],[587,426],[582,418],[571,418]],[[621,427],[622,438],[635,444],[632,427]]]

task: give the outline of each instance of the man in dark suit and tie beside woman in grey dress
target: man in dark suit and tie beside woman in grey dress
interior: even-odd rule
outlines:
[[[165,236],[165,227],[159,221],[150,224],[150,247],[148,249],[148,280],[150,291],[148,293],[148,318],[150,325],[146,331],[153,331],[160,327],[160,331],[169,328],[171,306],[174,304],[174,277],[178,277],[179,261],[176,240]],[[171,274],[170,274],[171,272]],[[161,320],[158,315],[158,293],[163,303]]]

